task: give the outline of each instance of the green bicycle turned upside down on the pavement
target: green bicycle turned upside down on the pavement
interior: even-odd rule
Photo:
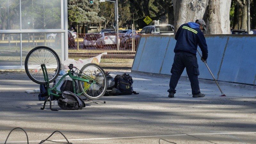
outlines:
[[[70,64],[70,69],[67,74],[60,78],[60,81],[53,87],[52,83],[60,73],[60,58],[55,51],[46,46],[38,46],[28,52],[25,59],[25,70],[28,77],[37,84],[45,84],[47,88],[47,96],[44,101],[45,108],[47,101],[50,102],[50,109],[52,109],[51,95],[60,97],[61,92],[56,88],[60,85],[62,79],[69,76],[72,79],[73,91],[77,95],[83,95],[90,100],[98,100],[107,90],[107,76],[103,68],[95,63],[88,63],[84,65],[81,70]],[[75,81],[78,82],[78,91],[75,90]],[[56,93],[54,93],[54,91]],[[61,97],[60,97],[61,98]]]

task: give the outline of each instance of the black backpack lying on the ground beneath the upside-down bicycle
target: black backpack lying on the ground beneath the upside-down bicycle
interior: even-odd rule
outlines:
[[[85,107],[84,100],[73,92],[62,92],[62,98],[58,100],[58,105],[64,110],[76,110]]]

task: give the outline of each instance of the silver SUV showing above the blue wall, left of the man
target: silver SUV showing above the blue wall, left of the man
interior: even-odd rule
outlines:
[[[162,34],[162,35],[173,35],[174,27],[173,25],[151,25],[142,28],[140,34]]]

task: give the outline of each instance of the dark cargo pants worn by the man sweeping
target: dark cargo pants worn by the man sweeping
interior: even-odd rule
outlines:
[[[177,52],[175,53],[171,73],[172,76],[170,78],[170,89],[167,92],[176,93],[176,86],[180,79],[182,72],[186,68],[188,78],[190,81],[192,94],[200,93],[199,82],[198,82],[198,64],[197,58],[194,54],[188,52]]]

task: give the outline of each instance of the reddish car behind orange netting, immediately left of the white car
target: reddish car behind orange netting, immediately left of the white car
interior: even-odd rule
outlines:
[[[100,38],[100,34],[98,33],[87,33],[84,36],[84,49],[92,46],[96,46],[96,40]]]

